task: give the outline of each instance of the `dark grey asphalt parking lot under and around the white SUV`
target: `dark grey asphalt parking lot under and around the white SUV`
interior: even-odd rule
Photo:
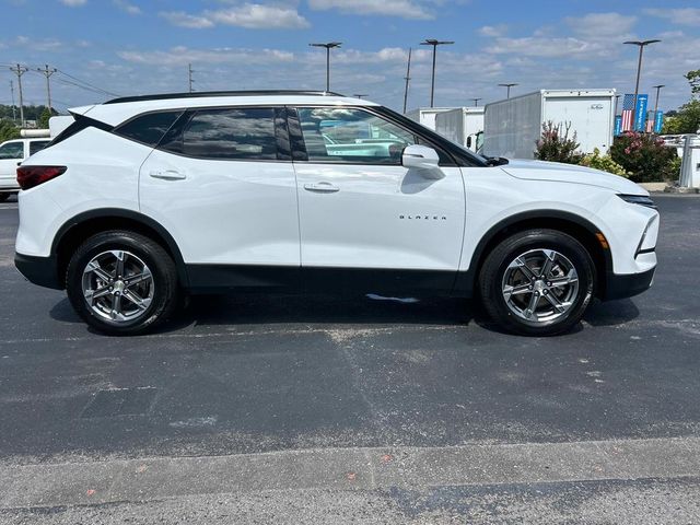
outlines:
[[[654,198],[654,287],[541,339],[332,295],[103,337],[0,203],[0,523],[698,523],[700,198]]]

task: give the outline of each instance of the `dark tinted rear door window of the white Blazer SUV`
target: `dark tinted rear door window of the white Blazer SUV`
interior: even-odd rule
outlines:
[[[277,160],[275,108],[198,110],[182,139],[167,142],[165,148],[200,159]]]

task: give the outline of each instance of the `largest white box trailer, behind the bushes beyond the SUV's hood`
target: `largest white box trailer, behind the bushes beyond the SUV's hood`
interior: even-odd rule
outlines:
[[[482,153],[534,159],[547,121],[570,122],[582,152],[606,153],[612,144],[615,90],[541,90],[487,104]]]

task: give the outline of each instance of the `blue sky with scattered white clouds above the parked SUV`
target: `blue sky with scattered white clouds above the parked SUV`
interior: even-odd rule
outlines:
[[[9,67],[27,67],[25,104],[44,104],[48,65],[55,107],[114,95],[195,89],[325,89],[325,50],[337,40],[331,91],[402,108],[430,104],[438,49],[436,106],[504,98],[540,89],[633,93],[638,48],[645,48],[641,93],[665,84],[660,108],[690,97],[684,74],[700,69],[700,0],[0,0],[0,104],[11,103]]]

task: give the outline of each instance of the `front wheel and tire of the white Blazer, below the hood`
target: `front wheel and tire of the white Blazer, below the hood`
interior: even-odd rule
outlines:
[[[557,230],[527,230],[488,255],[479,292],[486,311],[509,331],[552,336],[581,320],[595,279],[591,255],[574,237]]]

